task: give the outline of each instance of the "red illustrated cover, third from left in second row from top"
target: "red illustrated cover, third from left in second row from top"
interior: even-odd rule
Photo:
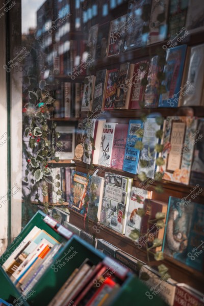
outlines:
[[[117,93],[117,80],[119,69],[112,69],[107,71],[105,96],[103,101],[103,108],[105,111],[114,110],[115,98]]]

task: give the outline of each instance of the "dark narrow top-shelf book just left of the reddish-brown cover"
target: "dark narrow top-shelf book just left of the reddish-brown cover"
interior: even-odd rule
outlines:
[[[107,57],[108,34],[110,22],[100,24],[98,27],[98,37],[96,42],[96,60],[102,60]]]

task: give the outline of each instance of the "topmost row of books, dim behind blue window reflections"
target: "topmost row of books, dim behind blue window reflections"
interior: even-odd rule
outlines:
[[[190,33],[203,30],[204,5],[199,0],[129,0],[127,13],[89,30],[90,58],[101,59],[125,50],[164,41],[178,45]]]

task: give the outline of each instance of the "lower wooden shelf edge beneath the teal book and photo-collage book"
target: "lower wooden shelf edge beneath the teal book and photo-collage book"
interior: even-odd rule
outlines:
[[[108,228],[103,224],[101,225],[100,223],[94,223],[91,221],[89,221],[87,224],[86,222],[84,222],[84,216],[71,209],[69,209],[69,212],[69,222],[71,224],[80,227],[82,230],[85,230],[91,235],[94,234],[96,238],[101,238],[112,243],[119,249],[131,254],[142,262],[147,263],[146,251],[144,249],[139,249],[131,239],[111,230],[111,228]],[[84,228],[85,223],[87,224],[87,226]],[[97,226],[97,229],[100,231],[99,233],[96,233],[96,231],[94,231],[95,227],[93,228],[93,225]],[[196,271],[167,256],[165,256],[165,259],[162,262],[152,260],[151,266],[156,267],[161,263],[165,264],[169,268],[169,274],[173,279],[175,279],[175,281],[180,283],[186,283],[201,292],[203,291],[204,275],[201,272]]]

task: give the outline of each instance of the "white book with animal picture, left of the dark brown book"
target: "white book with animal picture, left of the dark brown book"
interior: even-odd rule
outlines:
[[[127,212],[127,221],[125,224],[125,236],[134,241],[138,241],[142,218],[139,215],[139,210],[144,207],[144,200],[151,198],[151,192],[132,187],[130,203]]]

